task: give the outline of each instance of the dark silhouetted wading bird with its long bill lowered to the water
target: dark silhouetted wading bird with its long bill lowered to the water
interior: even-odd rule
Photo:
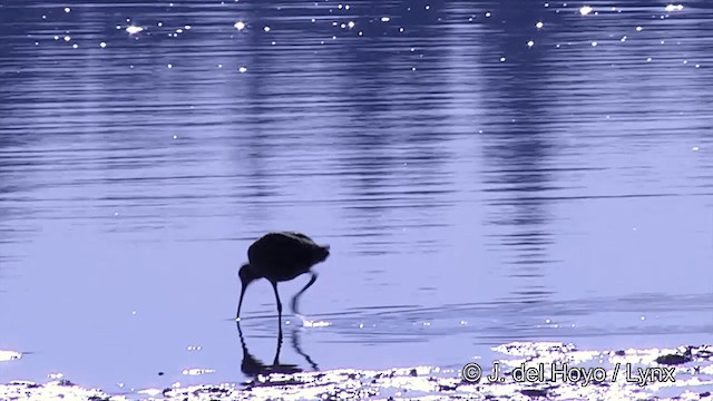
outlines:
[[[277,293],[277,283],[290,281],[303,273],[310,273],[312,278],[307,285],[292,299],[292,311],[299,314],[297,297],[316,281],[316,273],[310,271],[310,268],[320,262],[324,262],[329,255],[329,245],[318,245],[312,238],[302,233],[268,233],[255,241],[247,248],[248,263],[244,264],[238,272],[243,287],[235,319],[240,320],[241,317],[243,296],[245,296],[245,290],[250,283],[264,277],[270,281],[275,291],[277,319],[282,320],[282,302],[280,302],[280,294]]]

